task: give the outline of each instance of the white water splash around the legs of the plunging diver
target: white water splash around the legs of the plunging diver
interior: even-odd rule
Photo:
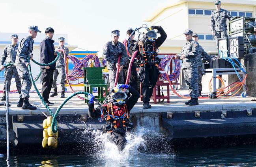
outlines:
[[[88,125],[90,126],[90,125]],[[88,129],[84,131],[88,133]],[[94,153],[91,154],[97,159],[105,160],[106,163],[113,161],[119,164],[125,163],[131,159],[143,156],[166,156],[173,158],[171,146],[168,145],[164,135],[155,130],[136,128],[133,132],[127,132],[125,139],[127,145],[119,152],[118,147],[113,142],[109,133],[103,133],[98,129],[91,130],[91,139]],[[163,146],[164,145],[164,146]],[[97,148],[97,149],[96,149]],[[153,154],[153,155],[152,155]]]

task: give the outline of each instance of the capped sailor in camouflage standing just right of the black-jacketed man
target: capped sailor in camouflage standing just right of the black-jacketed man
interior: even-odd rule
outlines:
[[[65,55],[69,55],[69,49],[64,46],[65,38],[60,37],[58,38],[59,41],[59,47],[55,50],[60,53],[59,59],[56,61],[56,70],[54,70],[53,73],[53,82],[52,82],[52,88],[53,93],[50,95],[50,97],[54,97],[58,95],[57,93],[57,77],[60,74],[60,86],[61,86],[61,95],[60,98],[65,98],[65,80],[66,80],[66,73],[65,73],[65,57],[63,50],[65,52]]]

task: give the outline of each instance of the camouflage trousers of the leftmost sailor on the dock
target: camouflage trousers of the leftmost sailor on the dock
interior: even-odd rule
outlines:
[[[6,81],[8,81],[9,85],[9,90],[11,88],[11,78],[12,76],[14,75],[14,78],[15,78],[15,82],[16,82],[16,88],[19,92],[19,94],[21,94],[21,79],[19,77],[19,74],[17,72],[17,69],[15,66],[13,67],[9,67],[9,68],[6,68],[6,71],[4,72],[4,77],[5,77],[5,81],[4,83],[6,83]],[[6,90],[6,85],[4,84],[4,92]]]

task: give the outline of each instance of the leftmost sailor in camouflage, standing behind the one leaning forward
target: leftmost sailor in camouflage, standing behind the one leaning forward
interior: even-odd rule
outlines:
[[[7,45],[4,48],[2,57],[0,57],[0,62],[1,62],[0,70],[4,70],[4,62],[5,61],[6,61],[6,64],[11,63],[11,62],[15,63],[16,54],[17,54],[17,50],[18,50],[17,42],[18,42],[18,35],[16,35],[16,34],[12,35],[11,36],[11,44]],[[4,72],[4,77],[5,77],[4,83],[6,83],[6,81],[8,81],[8,83],[9,83],[8,87],[10,90],[11,78],[13,75],[15,78],[17,90],[18,90],[19,94],[21,94],[21,79],[20,79],[17,69],[14,65],[8,66],[6,68],[6,70]],[[6,101],[6,85],[5,84],[4,84],[4,95],[1,100]],[[22,107],[22,105],[23,105],[23,99],[22,99],[22,103],[20,105],[18,104],[17,107]]]

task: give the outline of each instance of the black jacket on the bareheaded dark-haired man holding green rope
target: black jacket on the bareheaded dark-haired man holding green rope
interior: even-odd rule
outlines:
[[[43,64],[54,61],[56,56],[54,56],[54,40],[49,37],[45,37],[45,39],[40,43],[40,62]],[[45,68],[45,66],[41,66],[41,68]],[[50,65],[50,69],[55,70],[55,63]]]

